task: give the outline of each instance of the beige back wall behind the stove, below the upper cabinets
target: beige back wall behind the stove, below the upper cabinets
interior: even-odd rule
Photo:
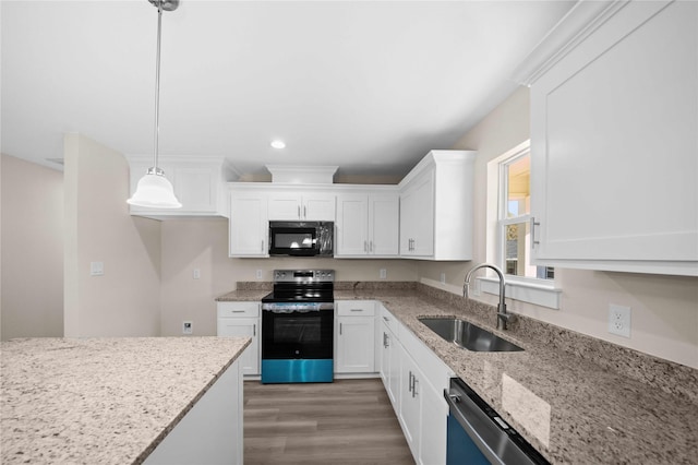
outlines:
[[[182,334],[184,320],[193,322],[195,335],[216,334],[214,298],[234,290],[238,282],[270,282],[276,269],[332,269],[338,281],[380,281],[386,269],[386,281],[417,281],[410,260],[229,259],[227,220],[168,219],[161,227],[164,336]],[[194,269],[201,270],[200,279],[193,278]]]

